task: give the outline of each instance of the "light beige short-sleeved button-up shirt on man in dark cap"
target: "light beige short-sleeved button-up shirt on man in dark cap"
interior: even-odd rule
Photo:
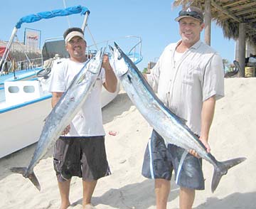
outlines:
[[[224,96],[223,62],[213,48],[198,41],[175,63],[178,43],[164,49],[148,81],[159,99],[200,135],[203,101]]]

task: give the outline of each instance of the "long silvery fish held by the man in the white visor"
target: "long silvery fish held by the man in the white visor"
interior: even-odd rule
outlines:
[[[46,118],[36,150],[33,153],[29,165],[27,167],[11,168],[12,172],[21,173],[23,177],[29,178],[39,191],[41,190],[41,186],[33,172],[33,168],[59,138],[65,127],[70,124],[75,114],[81,109],[82,104],[87,99],[100,74],[104,52],[105,48],[99,50],[94,58],[87,60],[80,72],[75,75],[68,90],[60,97],[60,100]]]

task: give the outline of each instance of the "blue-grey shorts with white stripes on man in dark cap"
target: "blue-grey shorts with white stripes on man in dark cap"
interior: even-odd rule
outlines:
[[[146,178],[162,178],[170,181],[173,170],[177,175],[179,161],[184,151],[174,144],[168,144],[166,148],[164,139],[153,130],[144,154],[142,175]],[[187,154],[178,178],[176,176],[176,183],[184,188],[203,190],[205,185],[202,159]]]

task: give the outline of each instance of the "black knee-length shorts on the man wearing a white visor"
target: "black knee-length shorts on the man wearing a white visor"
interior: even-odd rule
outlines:
[[[82,177],[84,181],[109,176],[105,137],[60,136],[55,144],[53,166],[58,181],[66,181],[72,176]]]

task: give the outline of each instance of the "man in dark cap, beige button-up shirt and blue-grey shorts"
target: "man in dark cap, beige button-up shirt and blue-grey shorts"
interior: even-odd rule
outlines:
[[[210,152],[208,135],[215,100],[224,96],[222,58],[200,41],[205,26],[201,9],[190,6],[180,11],[175,20],[181,41],[165,48],[147,80],[159,99],[186,120],[187,126]],[[164,139],[153,130],[144,155],[142,175],[155,179],[157,209],[166,209],[173,170],[180,186],[180,209],[191,209],[195,190],[204,189],[202,159],[196,151],[188,152],[182,160],[186,151],[173,144],[166,147]]]

